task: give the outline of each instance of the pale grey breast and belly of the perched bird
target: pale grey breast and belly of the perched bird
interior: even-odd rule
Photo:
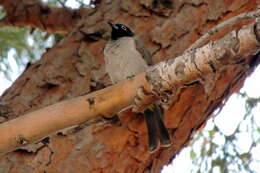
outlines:
[[[113,83],[121,82],[146,71],[148,68],[143,56],[136,49],[136,40],[133,37],[109,40],[104,55],[106,72],[108,72]]]

